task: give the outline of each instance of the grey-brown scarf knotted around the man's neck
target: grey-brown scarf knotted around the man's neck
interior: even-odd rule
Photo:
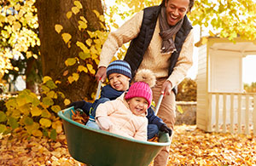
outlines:
[[[175,48],[175,44],[173,41],[173,35],[177,33],[177,31],[183,25],[183,19],[178,21],[175,26],[170,26],[166,19],[166,7],[162,6],[160,11],[160,37],[162,37],[162,49],[161,53],[173,53],[177,51]]]

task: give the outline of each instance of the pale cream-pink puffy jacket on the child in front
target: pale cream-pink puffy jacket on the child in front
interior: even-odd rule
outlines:
[[[125,93],[116,100],[100,104],[96,109],[96,123],[97,117],[108,117],[113,123],[108,130],[110,133],[136,140],[147,140],[147,112],[138,116],[133,114],[124,96]]]

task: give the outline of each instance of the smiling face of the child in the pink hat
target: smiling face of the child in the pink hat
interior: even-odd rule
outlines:
[[[131,112],[135,115],[141,115],[148,109],[148,101],[143,97],[133,97],[127,103]]]

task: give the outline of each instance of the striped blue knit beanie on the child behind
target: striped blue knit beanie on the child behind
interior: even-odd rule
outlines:
[[[112,73],[123,74],[131,78],[131,66],[125,60],[114,60],[107,68],[107,77]]]

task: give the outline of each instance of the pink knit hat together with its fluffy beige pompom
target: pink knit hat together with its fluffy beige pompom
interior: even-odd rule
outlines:
[[[131,99],[133,97],[143,97],[148,101],[148,107],[151,105],[152,101],[152,90],[155,84],[154,73],[148,69],[140,70],[136,73],[134,78],[135,83],[133,83],[125,95],[125,100]]]

